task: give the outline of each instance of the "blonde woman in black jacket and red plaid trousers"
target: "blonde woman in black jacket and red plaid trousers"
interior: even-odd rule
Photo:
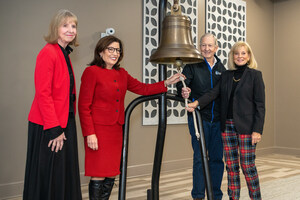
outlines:
[[[246,42],[237,42],[229,53],[229,70],[210,92],[188,104],[187,110],[205,107],[221,96],[221,129],[228,174],[228,196],[240,198],[240,166],[251,199],[261,199],[255,166],[256,144],[261,140],[265,119],[265,86],[252,50]],[[187,97],[187,91],[184,91]],[[239,160],[240,159],[240,160]],[[239,164],[240,162],[240,164]]]

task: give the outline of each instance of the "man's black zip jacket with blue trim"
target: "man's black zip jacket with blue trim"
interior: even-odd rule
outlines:
[[[197,100],[200,96],[210,91],[219,81],[221,74],[226,70],[220,59],[215,56],[217,62],[211,70],[209,64],[204,61],[196,64],[187,64],[183,69],[186,76],[185,84],[191,88],[190,100]],[[177,94],[181,96],[182,83],[177,83]],[[201,109],[202,120],[219,121],[220,120],[220,99],[209,103],[205,108]]]

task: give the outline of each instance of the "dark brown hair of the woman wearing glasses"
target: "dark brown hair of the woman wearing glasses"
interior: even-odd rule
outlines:
[[[113,42],[118,42],[120,45],[120,50],[121,50],[120,57],[119,57],[117,63],[113,66],[113,68],[117,69],[117,70],[120,69],[120,62],[124,55],[123,54],[123,44],[119,38],[112,36],[112,35],[105,36],[98,41],[98,43],[95,47],[95,51],[94,51],[94,59],[88,65],[89,66],[97,65],[99,67],[106,68],[106,64],[105,64],[104,60],[102,59],[102,57],[100,56],[100,53],[105,51],[106,48]]]

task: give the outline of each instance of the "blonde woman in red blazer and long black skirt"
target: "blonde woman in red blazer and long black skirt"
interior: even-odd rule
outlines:
[[[24,200],[80,200],[75,80],[69,45],[77,46],[77,17],[60,10],[36,59],[35,96],[28,116]]]

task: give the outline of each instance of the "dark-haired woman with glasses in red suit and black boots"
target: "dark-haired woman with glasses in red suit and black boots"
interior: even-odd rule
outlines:
[[[167,92],[179,74],[154,84],[144,84],[120,67],[123,45],[114,36],[101,38],[94,60],[81,77],[78,102],[85,141],[85,175],[91,176],[91,200],[109,199],[115,176],[120,173],[124,98],[127,90],[140,95]]]

